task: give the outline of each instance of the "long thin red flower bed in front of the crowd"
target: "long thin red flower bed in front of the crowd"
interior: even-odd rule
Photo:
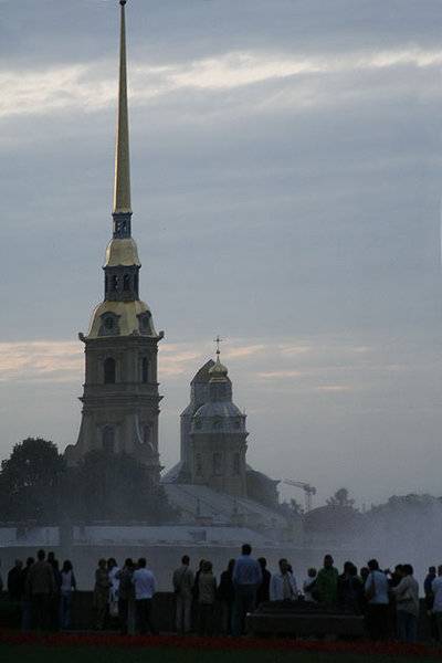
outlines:
[[[397,642],[370,641],[317,641],[317,640],[259,640],[251,638],[197,638],[178,635],[106,635],[102,634],[36,634],[0,631],[0,643],[4,644],[40,644],[45,646],[112,646],[112,648],[175,648],[204,649],[220,651],[235,650],[276,650],[304,651],[323,653],[352,653],[360,655],[389,656],[432,656],[442,660],[442,650],[434,650],[424,644],[399,644]]]

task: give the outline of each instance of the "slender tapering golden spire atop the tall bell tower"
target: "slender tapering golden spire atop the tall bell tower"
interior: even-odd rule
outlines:
[[[114,214],[127,214],[130,209],[130,164],[129,164],[129,119],[127,109],[127,63],[126,63],[126,0],[122,6],[119,44],[119,94],[117,141],[115,149]]]

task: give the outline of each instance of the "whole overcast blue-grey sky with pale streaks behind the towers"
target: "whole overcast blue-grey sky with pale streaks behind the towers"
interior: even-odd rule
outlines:
[[[129,0],[127,28],[164,464],[221,334],[257,470],[441,495],[440,0]],[[117,35],[116,0],[0,0],[2,457],[76,441]]]

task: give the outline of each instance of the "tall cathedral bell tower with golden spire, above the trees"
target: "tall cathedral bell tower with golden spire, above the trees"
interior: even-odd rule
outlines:
[[[69,463],[92,450],[126,452],[151,470],[159,482],[156,333],[149,307],[139,298],[137,245],[131,238],[129,123],[127,106],[126,0],[120,4],[120,53],[113,236],[104,264],[104,301],[91,320],[85,345],[86,376],[82,423]]]

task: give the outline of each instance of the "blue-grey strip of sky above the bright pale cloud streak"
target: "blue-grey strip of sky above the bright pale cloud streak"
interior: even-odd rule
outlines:
[[[436,0],[133,0],[133,53],[152,61],[244,48],[341,52],[386,42],[440,43]],[[91,61],[114,55],[116,2],[20,0],[0,4],[2,56],[9,62]]]

